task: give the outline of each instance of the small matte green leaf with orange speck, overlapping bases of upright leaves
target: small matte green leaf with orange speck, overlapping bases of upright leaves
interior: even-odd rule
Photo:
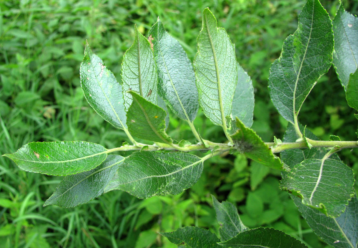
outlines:
[[[134,91],[132,105],[127,113],[127,126],[129,132],[141,139],[160,143],[171,143],[171,138],[165,133],[164,109],[145,100]]]

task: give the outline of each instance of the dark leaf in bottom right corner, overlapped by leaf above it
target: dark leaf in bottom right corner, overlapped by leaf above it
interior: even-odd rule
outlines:
[[[298,197],[291,196],[313,232],[329,245],[337,248],[358,247],[358,200],[354,196],[344,213],[331,218],[320,210],[307,207]]]

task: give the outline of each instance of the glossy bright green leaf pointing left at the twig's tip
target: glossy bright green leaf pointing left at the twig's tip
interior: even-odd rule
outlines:
[[[47,175],[71,175],[91,170],[107,157],[102,145],[85,141],[31,142],[4,154],[20,169]]]

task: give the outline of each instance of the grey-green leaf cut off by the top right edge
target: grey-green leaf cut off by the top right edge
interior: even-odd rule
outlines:
[[[333,64],[340,82],[347,87],[349,75],[358,68],[358,18],[345,11],[341,4],[332,24]]]

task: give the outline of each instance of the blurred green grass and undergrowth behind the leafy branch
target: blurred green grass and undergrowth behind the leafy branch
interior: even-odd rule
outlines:
[[[321,0],[331,18],[339,1]],[[235,44],[238,62],[255,87],[253,129],[264,141],[282,138],[287,121],[270,102],[267,78],[284,39],[297,28],[305,1],[287,0],[10,0],[0,1],[0,154],[32,141],[85,140],[118,147],[127,138],[84,99],[79,65],[86,39],[120,82],[121,60],[134,40],[160,16],[189,59],[196,53],[201,13],[209,7]],[[352,14],[358,2],[343,1]],[[357,120],[334,69],[306,100],[300,122],[321,139],[356,140]],[[225,140],[199,111],[195,126],[206,139]],[[194,142],[189,127],[170,113],[168,133]],[[200,154],[198,154],[200,155]],[[357,152],[342,159],[358,172]],[[180,195],[139,200],[119,190],[69,209],[42,207],[61,177],[19,170],[0,157],[1,247],[175,247],[156,232],[197,225],[217,232],[210,194],[237,205],[248,227],[281,229],[309,245],[328,247],[300,217],[280,173],[242,155],[204,163],[199,182]],[[357,188],[357,187],[356,187]]]

